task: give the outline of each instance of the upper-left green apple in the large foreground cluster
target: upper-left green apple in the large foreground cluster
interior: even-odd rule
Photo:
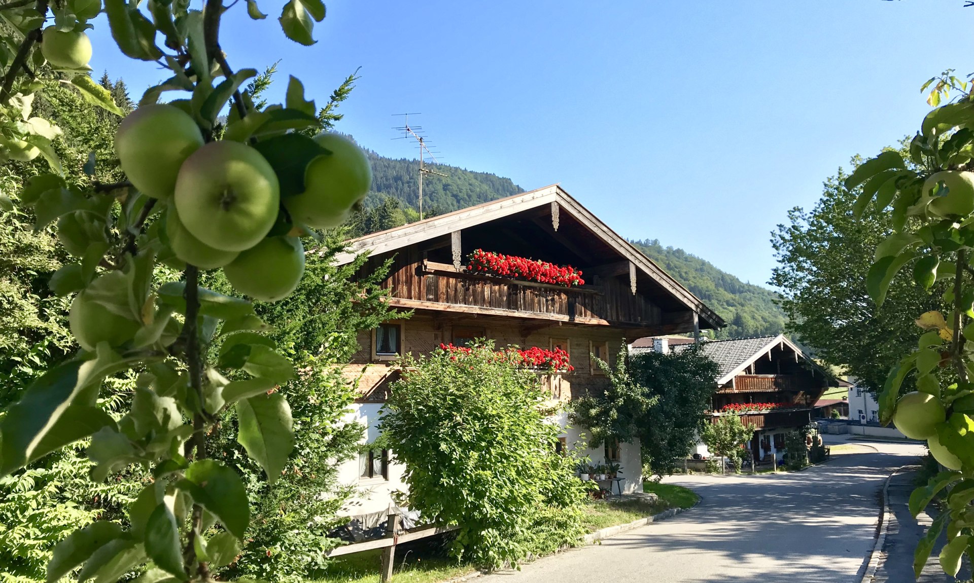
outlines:
[[[172,105],[143,105],[115,133],[115,153],[131,183],[154,199],[168,199],[179,167],[204,144],[187,113]]]

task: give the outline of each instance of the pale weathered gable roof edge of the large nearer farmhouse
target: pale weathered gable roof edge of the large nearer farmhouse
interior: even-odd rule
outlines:
[[[578,220],[595,237],[611,245],[619,255],[631,261],[636,270],[651,277],[688,310],[702,318],[701,328],[720,328],[724,319],[703,304],[696,296],[663,271],[649,257],[629,241],[609,228],[578,200],[573,199],[558,185],[545,186],[505,199],[492,200],[461,210],[409,223],[386,231],[357,237],[348,241],[348,250],[335,256],[338,265],[352,262],[356,255],[370,252],[373,255],[388,253],[435,237],[447,236],[466,228],[482,225],[532,208],[550,206],[552,214],[567,213]]]

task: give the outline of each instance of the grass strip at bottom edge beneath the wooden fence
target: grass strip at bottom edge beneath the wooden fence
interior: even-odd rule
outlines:
[[[394,583],[438,583],[474,570],[439,557],[424,558],[415,553],[395,555]],[[378,583],[381,556],[382,550],[376,549],[338,557],[308,583]]]

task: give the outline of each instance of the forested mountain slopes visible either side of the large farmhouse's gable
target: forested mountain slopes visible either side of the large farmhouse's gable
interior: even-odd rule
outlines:
[[[372,191],[365,208],[351,221],[353,236],[391,229],[419,219],[419,161],[384,158],[369,151]],[[427,175],[423,183],[423,214],[430,217],[481,202],[524,192],[509,178],[449,165],[435,166],[447,176]],[[656,239],[633,243],[687,286],[728,323],[717,338],[778,334],[784,313],[773,303],[771,290],[744,283],[683,249],[663,247]]]

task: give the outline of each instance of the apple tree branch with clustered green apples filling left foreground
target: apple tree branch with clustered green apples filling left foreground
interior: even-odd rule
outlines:
[[[255,102],[241,89],[256,71],[231,67],[220,48],[222,15],[266,16],[256,0],[235,5],[0,4],[0,158],[50,165],[25,181],[18,200],[35,229],[56,224],[73,257],[51,287],[73,298],[70,332],[81,346],[0,420],[0,476],[90,440],[92,480],[131,464],[153,477],[126,526],[97,521],[58,543],[49,581],[78,569],[79,580],[99,583],[142,569],[145,583],[209,579],[211,566],[239,554],[250,520],[240,475],[207,455],[216,420],[236,410],[237,440],[268,482],[294,447],[277,390],[294,377],[292,364],[251,302],[201,287],[201,271],[222,269],[251,299],[287,297],[304,273],[301,238],[344,222],[371,172],[345,138],[302,131],[317,127],[320,114],[299,80],[290,79],[282,104]],[[102,12],[124,55],[168,70],[120,124],[115,152],[128,180],[111,184],[94,182],[92,159],[65,167],[51,145],[60,129],[31,112],[42,76],[56,72],[93,107],[122,115],[88,75],[86,30]],[[279,22],[288,38],[311,45],[324,12],[320,0],[290,0]],[[122,373],[137,383],[116,419],[96,403],[106,379]]]

